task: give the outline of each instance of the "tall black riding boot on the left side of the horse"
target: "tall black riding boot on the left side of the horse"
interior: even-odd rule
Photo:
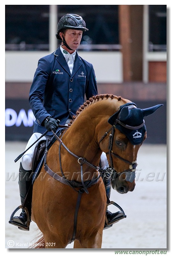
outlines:
[[[19,184],[20,199],[21,199],[22,205],[24,203],[25,196],[27,195],[27,192],[31,186],[31,183],[32,183],[32,170],[26,171],[25,169],[23,169],[22,164],[20,163],[18,184]],[[25,204],[25,207],[27,207],[29,215],[31,217],[32,189],[30,189],[24,204]],[[27,215],[25,213],[25,210],[22,209],[22,212],[20,213],[20,215],[14,216],[12,221],[22,225],[26,225]],[[21,230],[26,230],[21,227],[18,227],[18,228]]]

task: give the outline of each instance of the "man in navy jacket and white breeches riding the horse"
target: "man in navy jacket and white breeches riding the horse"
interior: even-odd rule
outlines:
[[[33,134],[26,149],[29,148],[46,130],[48,133],[41,138],[52,137],[58,129],[58,124],[68,124],[76,110],[84,103],[84,97],[89,99],[97,95],[97,82],[93,65],[82,59],[76,49],[79,47],[82,35],[87,31],[85,21],[76,14],[66,14],[58,22],[56,37],[61,46],[53,53],[41,58],[38,62],[29,94],[29,102],[36,118]],[[68,63],[68,60],[70,63]],[[59,120],[60,121],[59,121]],[[31,184],[32,157],[35,144],[25,152],[19,168],[19,191],[21,204]],[[101,157],[103,163],[103,155]],[[106,163],[102,167],[107,166]],[[34,171],[34,170],[33,170]],[[107,182],[105,182],[105,187]],[[106,188],[110,196],[110,186]],[[31,216],[31,200],[26,202]],[[122,216],[122,212],[111,213],[107,210],[108,221]],[[23,209],[19,216],[12,219],[16,226],[26,225],[27,215]],[[110,226],[106,226],[108,228]]]

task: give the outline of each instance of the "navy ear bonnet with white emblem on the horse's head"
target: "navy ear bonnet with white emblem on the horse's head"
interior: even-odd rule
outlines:
[[[133,145],[139,145],[142,143],[146,132],[144,116],[153,114],[161,106],[163,105],[159,104],[151,108],[140,109],[133,102],[126,103],[120,106],[118,112],[109,118],[108,123],[115,125],[120,132],[127,136]]]

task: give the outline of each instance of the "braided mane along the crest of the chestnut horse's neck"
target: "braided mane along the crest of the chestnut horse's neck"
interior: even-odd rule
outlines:
[[[81,105],[80,108],[78,108],[78,110],[76,111],[76,116],[73,116],[73,120],[70,121],[70,124],[68,124],[68,126],[70,126],[75,119],[78,117],[78,115],[85,109],[88,108],[90,105],[94,104],[97,101],[103,100],[104,98],[108,99],[108,98],[116,98],[118,101],[122,100],[122,97],[120,96],[115,96],[113,94],[99,94],[96,96],[92,96],[92,98],[90,98],[89,100],[86,100],[86,102],[83,103],[83,105]]]

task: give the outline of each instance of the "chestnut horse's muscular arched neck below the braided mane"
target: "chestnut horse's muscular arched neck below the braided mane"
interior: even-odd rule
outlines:
[[[108,118],[113,115],[118,108],[116,103],[113,104],[112,101],[115,102],[117,99],[102,100],[102,103],[97,102],[84,109],[62,138],[62,141],[71,152],[79,157],[84,157],[88,162],[96,166],[99,164],[102,154],[102,150],[98,144],[98,134],[103,136],[106,129],[110,128]],[[65,154],[66,152],[63,150],[63,153]],[[70,170],[71,172],[80,171],[80,166],[77,164],[77,160],[74,159],[74,157],[69,155],[63,156],[62,154],[61,157],[63,158],[63,164],[66,165],[66,168],[72,166],[73,171]],[[83,171],[90,172],[90,175],[95,173],[95,170],[86,166],[86,164],[84,164]]]

